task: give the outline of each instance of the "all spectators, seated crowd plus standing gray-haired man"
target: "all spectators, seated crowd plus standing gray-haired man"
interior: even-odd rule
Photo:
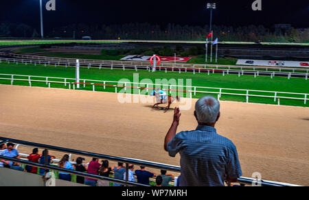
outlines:
[[[177,186],[225,186],[225,179],[228,182],[237,182],[238,177],[242,175],[238,152],[236,146],[231,140],[217,134],[215,125],[220,118],[220,103],[211,96],[205,96],[199,99],[195,105],[194,116],[198,123],[198,127],[193,131],[180,132],[176,134],[179,126],[181,112],[179,108],[175,108],[173,121],[168,133],[165,136],[164,149],[168,151],[171,157],[177,153],[181,155],[181,176]],[[19,152],[14,149],[14,144],[8,142],[0,146],[0,155],[20,159]],[[47,158],[45,159],[45,155]],[[34,163],[51,164],[55,159],[53,155],[49,155],[47,151],[43,154],[38,153],[38,149],[33,149],[27,160]],[[150,185],[150,178],[155,178],[157,186],[169,186],[174,180],[174,176],[161,171],[161,175],[156,175],[150,171],[146,171],[145,166],[134,171],[133,164],[128,165],[128,175],[123,163],[118,166],[109,166],[108,160],[100,160],[93,158],[89,164],[83,164],[83,158],[77,158],[76,164],[69,161],[69,155],[63,155],[58,167],[67,170],[76,170],[79,172],[87,172],[92,175],[102,177],[110,177],[114,174],[116,179],[126,180],[129,182],[137,182],[139,184]],[[19,163],[0,160],[0,167],[11,168],[18,171],[27,171],[28,173],[39,173],[45,175],[48,170],[37,167],[25,166],[22,168]],[[136,178],[135,178],[136,177]],[[71,174],[66,171],[60,171],[58,178],[71,182]],[[109,186],[107,180],[93,179],[89,177],[78,176],[76,182],[86,184],[88,186]],[[121,184],[113,184],[113,186],[122,186]]]

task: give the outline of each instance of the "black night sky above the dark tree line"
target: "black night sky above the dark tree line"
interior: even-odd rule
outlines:
[[[48,0],[43,0],[47,2]],[[123,24],[130,22],[167,25],[205,25],[209,23],[207,2],[216,2],[215,25],[264,25],[290,23],[309,27],[309,1],[262,0],[262,11],[253,11],[254,0],[229,1],[93,1],[56,0],[56,11],[44,11],[46,29],[71,23]],[[0,22],[25,23],[39,27],[38,0],[10,0],[0,3]]]

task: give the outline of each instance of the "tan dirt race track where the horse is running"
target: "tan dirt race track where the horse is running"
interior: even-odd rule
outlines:
[[[173,110],[118,103],[114,93],[0,85],[0,112],[3,137],[179,165],[163,150]],[[196,128],[193,112],[182,112],[179,131]],[[309,186],[308,108],[222,101],[221,113],[218,134],[235,143],[245,177]]]

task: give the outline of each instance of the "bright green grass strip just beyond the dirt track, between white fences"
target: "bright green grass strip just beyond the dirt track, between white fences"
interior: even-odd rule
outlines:
[[[63,77],[63,78],[72,78],[71,80],[67,80],[67,82],[74,82],[75,78],[75,68],[73,67],[65,67],[65,66],[43,66],[33,64],[10,64],[6,62],[2,62],[0,64],[0,73],[1,74],[14,74],[14,75],[32,75],[32,76],[42,76],[42,77]],[[142,79],[150,79],[153,83],[155,83],[156,79],[176,79],[176,84],[183,85],[186,84],[186,80],[190,79],[192,82],[192,86],[201,86],[201,87],[211,87],[211,88],[234,88],[234,89],[243,89],[243,90],[264,90],[264,91],[275,91],[275,92],[296,92],[296,93],[306,93],[309,94],[309,84],[306,79],[299,78],[291,78],[287,79],[286,77],[253,77],[250,75],[244,75],[238,77],[238,75],[225,75],[222,76],[220,74],[210,74],[207,73],[176,73],[176,72],[168,72],[165,73],[163,71],[157,71],[155,73],[148,71],[133,71],[122,69],[113,69],[105,68],[80,68],[80,79],[91,79],[98,80],[101,82],[93,82],[96,84],[103,84],[102,81],[114,81],[119,82],[121,79],[127,79],[127,81],[135,82],[136,79],[133,79],[133,75],[139,76],[139,82]],[[8,77],[0,75],[0,77]],[[28,79],[28,77],[14,77],[14,79]],[[44,78],[35,78],[32,77],[32,80],[45,80]],[[183,79],[184,82],[179,82],[179,79]],[[63,79],[49,79],[50,81],[58,81],[63,82]],[[121,80],[124,81],[124,80]],[[11,84],[10,80],[0,79],[0,84]],[[25,81],[14,81],[16,85],[24,85],[29,86],[28,82]],[[107,84],[107,83],[106,83]],[[109,83],[108,83],[109,84]],[[68,88],[68,85],[64,84],[51,84],[52,87],[55,88]],[[43,86],[47,87],[45,82],[32,82],[32,86]],[[87,85],[85,87],[81,87],[82,90],[93,90],[91,85]],[[173,88],[174,89],[174,88]],[[96,91],[104,91],[104,92],[115,92],[115,87],[106,86],[104,89],[103,86],[95,86]],[[184,90],[186,90],[184,88]],[[187,88],[187,90],[192,90],[192,88]],[[214,89],[204,89],[198,88],[197,90],[203,91],[204,93],[197,92],[196,95],[192,93],[193,98],[203,97],[204,95],[211,95],[211,93],[207,92],[218,92],[218,90]],[[117,88],[117,92],[123,91],[123,88]],[[138,90],[132,91],[138,92]],[[247,91],[231,91],[231,90],[222,90],[222,92],[228,93],[238,93],[238,94],[246,94]],[[268,92],[250,92],[250,95],[268,95],[273,96],[274,93]],[[172,94],[173,95],[173,94]],[[217,97],[217,95],[214,95]],[[280,94],[279,96],[282,96]],[[187,97],[187,96],[186,96]],[[283,97],[283,96],[282,96]],[[286,94],[284,97],[297,97],[304,98],[304,95],[289,95]],[[308,97],[307,97],[308,98]],[[220,100],[227,101],[246,101],[245,96],[236,96],[236,95],[222,95]],[[274,101],[274,98],[267,97],[249,97],[250,103],[269,103],[269,104],[277,104],[277,101]],[[297,105],[309,107],[309,104],[304,104],[304,100],[292,100],[292,99],[280,99],[280,103],[282,105]]]

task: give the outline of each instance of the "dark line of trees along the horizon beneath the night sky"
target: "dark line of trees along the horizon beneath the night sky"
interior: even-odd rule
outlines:
[[[205,40],[209,26],[189,26],[168,24],[165,27],[149,23],[129,23],[124,25],[86,25],[75,24],[56,27],[45,32],[49,38],[93,39],[138,39],[138,40]],[[25,24],[0,23],[0,37],[36,38],[36,29]],[[263,25],[231,27],[214,25],[214,37],[220,41],[258,41],[264,42],[309,42],[309,28],[288,29],[267,28]]]

